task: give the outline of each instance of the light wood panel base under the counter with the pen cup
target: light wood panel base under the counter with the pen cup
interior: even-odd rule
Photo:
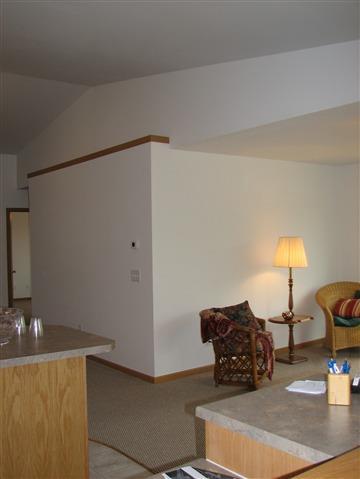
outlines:
[[[248,478],[274,478],[311,463],[205,421],[206,459]]]

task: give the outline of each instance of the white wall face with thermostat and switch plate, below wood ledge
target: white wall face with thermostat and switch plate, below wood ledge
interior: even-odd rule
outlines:
[[[150,145],[35,177],[30,201],[33,314],[115,339],[106,359],[154,375]]]

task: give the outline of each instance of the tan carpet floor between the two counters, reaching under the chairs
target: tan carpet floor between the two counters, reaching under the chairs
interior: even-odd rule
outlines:
[[[300,351],[299,351],[300,353]],[[309,361],[296,365],[276,363],[273,381],[261,387],[295,378],[325,373],[328,352],[305,348]],[[339,354],[360,370],[359,349]],[[247,390],[214,387],[209,373],[164,384],[150,384],[89,360],[89,437],[108,444],[153,472],[204,455],[203,424],[195,420],[195,407]]]

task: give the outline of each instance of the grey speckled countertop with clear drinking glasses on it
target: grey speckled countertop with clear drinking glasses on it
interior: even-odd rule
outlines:
[[[114,349],[114,346],[112,339],[65,326],[45,324],[44,335],[39,338],[27,332],[0,346],[0,368],[105,353]]]

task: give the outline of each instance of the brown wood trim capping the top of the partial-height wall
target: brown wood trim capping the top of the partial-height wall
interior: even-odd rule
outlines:
[[[48,168],[43,168],[41,170],[36,170],[31,173],[28,173],[28,178],[34,178],[34,176],[45,175],[46,173],[51,173],[52,171],[62,170],[63,168],[68,168],[69,166],[78,165],[79,163],[84,163],[86,161],[95,160],[101,156],[110,155],[111,153],[116,153],[117,151],[128,150],[129,148],[134,148],[135,146],[143,145],[144,143],[166,143],[170,142],[169,137],[159,136],[159,135],[147,135],[136,140],[127,141],[126,143],[121,143],[120,145],[111,146],[105,148],[104,150],[95,151],[94,153],[89,153],[85,156],[80,156],[79,158],[74,158],[73,160],[65,161],[57,165],[49,166]]]

